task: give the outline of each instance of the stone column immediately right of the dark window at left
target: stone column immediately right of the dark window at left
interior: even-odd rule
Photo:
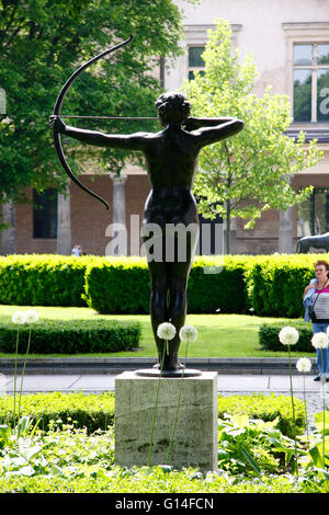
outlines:
[[[71,253],[71,206],[70,186],[57,197],[57,254]]]

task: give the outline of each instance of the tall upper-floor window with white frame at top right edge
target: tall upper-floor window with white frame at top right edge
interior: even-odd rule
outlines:
[[[294,45],[294,121],[329,122],[329,43]]]

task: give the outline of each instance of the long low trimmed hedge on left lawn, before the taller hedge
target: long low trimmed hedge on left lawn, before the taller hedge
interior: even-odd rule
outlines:
[[[29,325],[20,325],[19,353],[24,353]],[[18,325],[1,324],[0,352],[14,353]],[[131,351],[139,345],[140,324],[114,320],[42,320],[33,324],[30,354],[77,354]]]

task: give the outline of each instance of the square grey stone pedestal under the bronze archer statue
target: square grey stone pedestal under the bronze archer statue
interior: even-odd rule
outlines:
[[[125,371],[115,378],[115,464],[147,466],[158,378]],[[164,465],[180,378],[161,378],[150,465]],[[217,469],[217,373],[182,382],[181,404],[168,465]]]

